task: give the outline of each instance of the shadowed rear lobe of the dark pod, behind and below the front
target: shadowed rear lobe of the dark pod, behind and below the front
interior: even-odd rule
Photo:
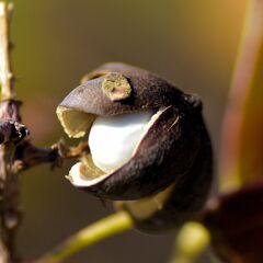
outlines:
[[[195,122],[203,123],[201,114]],[[183,179],[164,191],[139,201],[117,202],[117,208],[126,209],[134,218],[137,229],[160,232],[179,227],[202,208],[211,180],[211,146],[204,124],[199,125],[202,140],[198,153]]]

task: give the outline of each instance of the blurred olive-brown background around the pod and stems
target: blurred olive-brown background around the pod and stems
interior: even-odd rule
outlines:
[[[157,72],[197,93],[215,156],[230,77],[244,18],[244,0],[14,0],[13,69],[23,121],[38,146],[66,137],[57,104],[80,78],[105,61],[125,61]],[[75,144],[75,141],[71,141]],[[19,250],[46,252],[78,229],[111,213],[64,178],[72,163],[22,175],[24,219]],[[174,233],[135,230],[105,240],[68,260],[75,263],[168,262]]]

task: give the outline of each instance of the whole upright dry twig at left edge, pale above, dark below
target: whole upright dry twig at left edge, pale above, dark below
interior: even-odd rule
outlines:
[[[20,125],[21,102],[14,99],[13,78],[9,54],[9,22],[12,5],[0,2],[0,243],[1,263],[18,261],[15,253],[15,232],[21,220],[19,209],[19,176],[12,171],[18,144],[27,135]],[[4,250],[4,251],[3,251]]]

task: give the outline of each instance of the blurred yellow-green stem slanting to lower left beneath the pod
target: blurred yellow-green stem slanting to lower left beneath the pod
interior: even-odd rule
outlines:
[[[34,263],[60,263],[75,253],[103,239],[132,229],[133,219],[126,211],[117,211],[81,229]]]

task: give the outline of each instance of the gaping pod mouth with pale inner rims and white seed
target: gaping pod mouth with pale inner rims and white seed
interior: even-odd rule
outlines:
[[[69,137],[88,136],[90,152],[69,171],[75,186],[89,187],[111,176],[135,156],[163,108],[110,117],[60,107],[58,117]]]

